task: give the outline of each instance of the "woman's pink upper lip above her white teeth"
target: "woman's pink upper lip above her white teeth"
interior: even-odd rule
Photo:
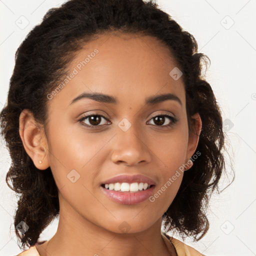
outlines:
[[[155,182],[151,178],[144,176],[142,174],[136,174],[136,175],[121,174],[121,175],[117,175],[117,176],[114,176],[112,178],[109,178],[109,179],[103,181],[102,184],[110,184],[110,183],[117,183],[117,182],[119,182],[119,183],[143,182],[143,183],[147,183],[148,185],[155,184]]]

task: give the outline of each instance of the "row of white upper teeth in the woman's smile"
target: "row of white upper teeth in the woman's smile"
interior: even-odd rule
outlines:
[[[109,189],[109,190],[115,190],[115,191],[122,191],[122,192],[137,192],[139,190],[145,190],[147,188],[150,187],[150,185],[148,185],[147,183],[143,183],[143,182],[134,182],[134,183],[127,183],[127,182],[123,182],[123,183],[110,183],[110,184],[104,184],[104,187]]]

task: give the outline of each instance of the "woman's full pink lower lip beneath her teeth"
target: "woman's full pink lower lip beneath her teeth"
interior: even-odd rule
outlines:
[[[109,190],[102,186],[100,189],[107,195],[112,201],[121,204],[137,204],[145,201],[153,193],[155,185],[150,186],[148,189],[140,190],[138,192],[120,192],[115,190]]]

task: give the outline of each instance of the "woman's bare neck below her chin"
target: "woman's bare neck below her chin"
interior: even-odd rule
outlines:
[[[54,236],[36,248],[41,256],[170,255],[161,236],[161,218],[146,230],[116,233],[65,207],[60,207]]]

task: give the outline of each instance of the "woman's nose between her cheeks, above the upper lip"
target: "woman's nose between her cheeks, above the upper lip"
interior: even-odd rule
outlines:
[[[111,160],[124,165],[150,162],[151,153],[145,136],[141,136],[133,125],[126,131],[119,129],[113,143]]]

